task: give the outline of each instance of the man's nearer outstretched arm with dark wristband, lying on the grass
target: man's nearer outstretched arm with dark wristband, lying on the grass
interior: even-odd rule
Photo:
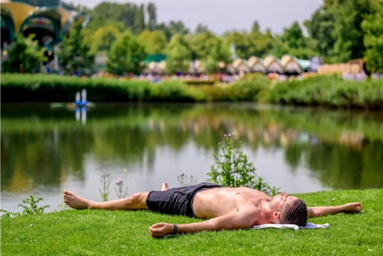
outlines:
[[[254,224],[254,214],[254,211],[238,211],[237,213],[220,216],[202,222],[180,224],[177,225],[177,233],[251,228]],[[154,238],[164,237],[172,234],[173,231],[174,226],[170,223],[157,223],[149,227],[149,232]]]

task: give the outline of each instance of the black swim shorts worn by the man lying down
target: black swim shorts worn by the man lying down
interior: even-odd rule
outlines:
[[[149,210],[170,215],[196,217],[193,210],[193,199],[197,192],[209,188],[220,188],[221,185],[203,182],[188,187],[171,188],[166,191],[152,191],[146,198]]]

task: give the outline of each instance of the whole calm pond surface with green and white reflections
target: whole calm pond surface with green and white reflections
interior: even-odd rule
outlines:
[[[0,106],[0,208],[30,194],[58,209],[61,191],[101,200],[102,174],[128,194],[203,182],[225,133],[242,140],[260,177],[290,193],[383,187],[381,114],[254,104]],[[126,172],[124,171],[126,170]]]

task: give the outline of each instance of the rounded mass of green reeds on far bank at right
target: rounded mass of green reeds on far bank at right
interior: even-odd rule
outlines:
[[[300,106],[380,109],[383,106],[381,81],[352,81],[339,76],[316,76],[275,84],[267,102]]]

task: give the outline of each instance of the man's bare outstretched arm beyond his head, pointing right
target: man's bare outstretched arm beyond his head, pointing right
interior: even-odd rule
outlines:
[[[345,205],[337,206],[307,207],[307,213],[309,218],[334,215],[337,213],[358,213],[360,210],[362,210],[361,203],[347,203]]]

